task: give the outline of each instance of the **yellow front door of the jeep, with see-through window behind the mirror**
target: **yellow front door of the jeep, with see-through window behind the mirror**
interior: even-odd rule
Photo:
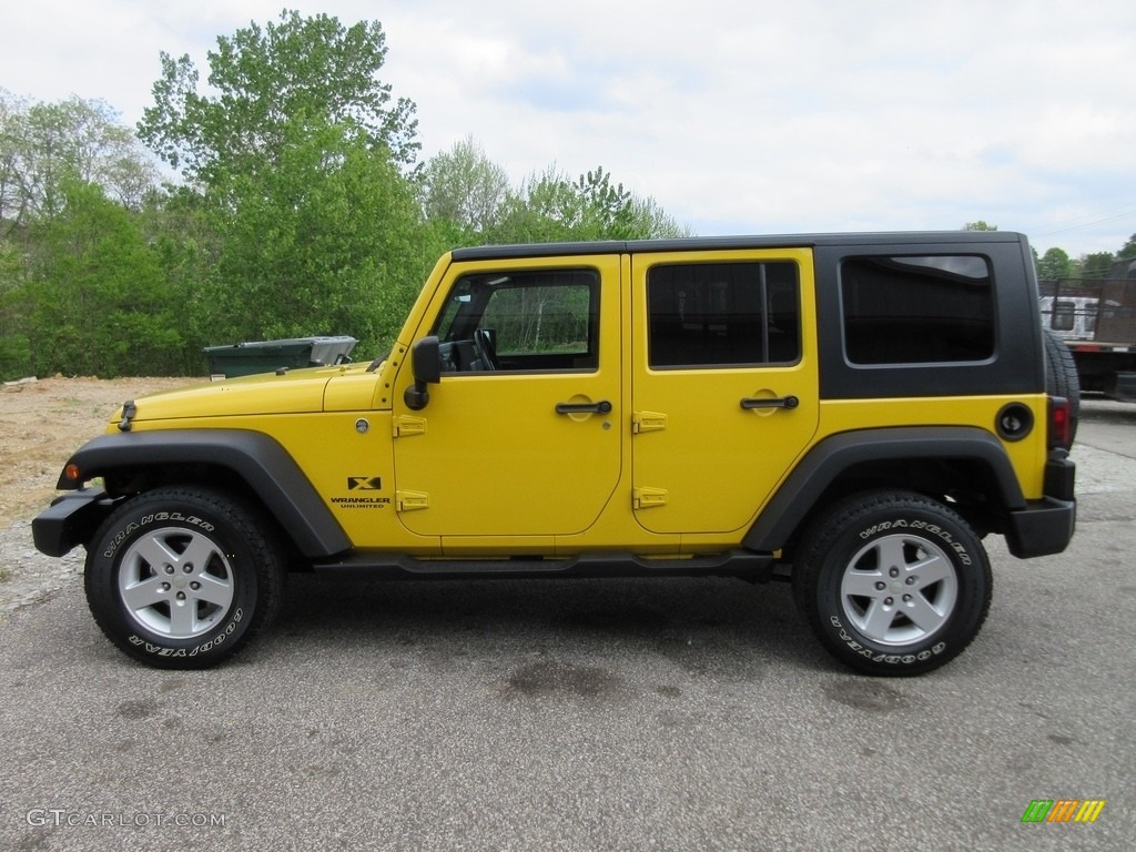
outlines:
[[[542,551],[595,520],[620,476],[619,287],[615,254],[451,267],[419,335],[438,336],[442,379],[420,411],[395,402],[408,529]]]

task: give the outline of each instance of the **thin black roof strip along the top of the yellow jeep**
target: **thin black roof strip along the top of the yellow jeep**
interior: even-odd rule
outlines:
[[[691,236],[668,240],[598,240],[594,242],[521,243],[516,245],[477,245],[454,249],[454,260],[488,260],[495,258],[536,258],[573,254],[635,254],[662,251],[715,251],[728,249],[787,249],[818,247],[869,247],[896,244],[912,247],[939,244],[1026,244],[1024,234],[1012,231],[896,231],[835,234],[779,234],[768,236]],[[925,250],[925,248],[919,249]]]

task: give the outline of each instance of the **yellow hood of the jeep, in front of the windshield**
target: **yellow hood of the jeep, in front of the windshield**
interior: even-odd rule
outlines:
[[[377,374],[366,373],[366,365],[312,367],[289,370],[282,375],[266,373],[242,376],[224,382],[209,382],[143,394],[124,403],[111,418],[111,425],[117,428],[126,416],[132,424],[140,424],[197,417],[323,411],[325,394],[331,383],[344,384],[335,394],[337,400],[335,408],[342,408],[344,402],[350,408],[369,408],[376,381]],[[128,408],[133,408],[133,411],[127,411]]]

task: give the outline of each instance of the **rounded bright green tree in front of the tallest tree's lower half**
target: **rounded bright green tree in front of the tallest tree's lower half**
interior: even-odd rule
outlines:
[[[214,209],[226,236],[209,326],[218,343],[350,334],[377,348],[427,269],[414,187],[342,126],[293,130],[278,167],[233,176]]]

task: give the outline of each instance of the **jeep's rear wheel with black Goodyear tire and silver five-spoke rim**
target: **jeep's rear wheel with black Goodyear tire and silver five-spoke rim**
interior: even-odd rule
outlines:
[[[802,618],[837,660],[869,675],[920,675],[957,657],[986,620],[992,590],[974,531],[912,492],[837,503],[793,566]]]

